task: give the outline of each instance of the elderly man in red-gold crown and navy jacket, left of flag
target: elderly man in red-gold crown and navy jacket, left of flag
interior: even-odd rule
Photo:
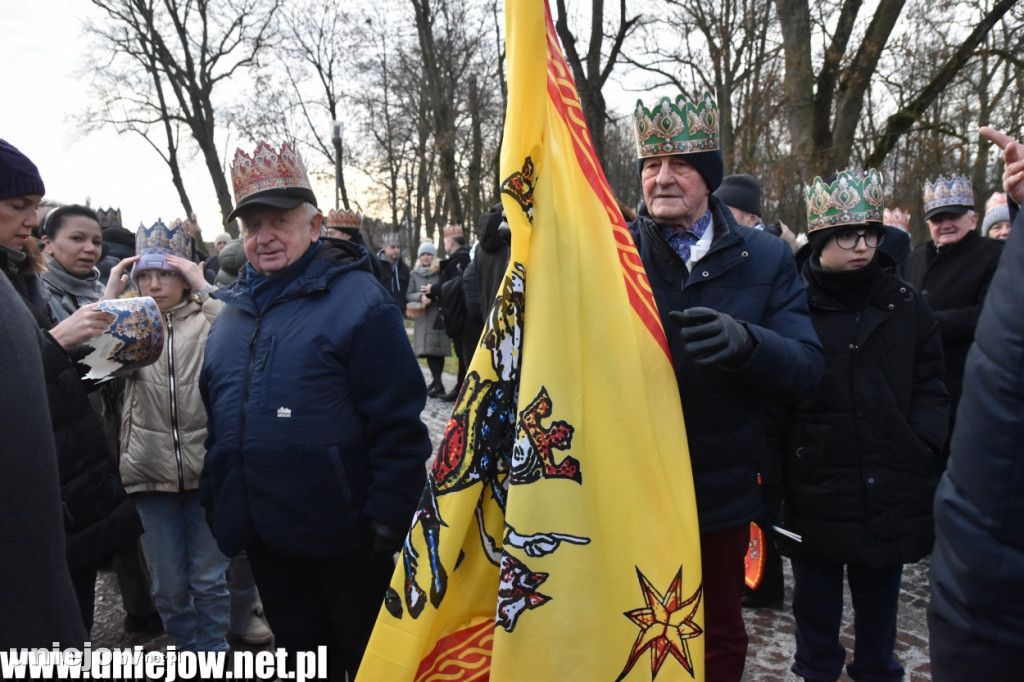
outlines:
[[[426,385],[371,256],[319,240],[298,156],[262,142],[231,175],[249,264],[213,294],[200,489],[278,646],[327,646],[332,679],[354,679],[426,480]]]

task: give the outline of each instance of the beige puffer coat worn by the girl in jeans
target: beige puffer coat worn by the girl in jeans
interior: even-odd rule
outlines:
[[[164,313],[164,352],[133,372],[121,420],[121,478],[129,493],[199,487],[206,457],[206,409],[199,375],[210,326],[223,303],[193,297]],[[173,376],[173,381],[172,381]]]

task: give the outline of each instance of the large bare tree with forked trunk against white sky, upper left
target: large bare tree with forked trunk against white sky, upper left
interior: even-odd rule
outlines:
[[[165,162],[191,213],[180,180],[180,138],[187,130],[213,183],[221,213],[233,202],[217,146],[214,90],[259,66],[273,40],[272,20],[281,0],[91,0],[106,13],[91,22],[97,48],[88,58],[90,73],[102,93],[85,120],[136,132],[155,148],[165,146]],[[144,73],[146,82],[132,77]],[[134,87],[126,88],[125,83]],[[160,132],[158,133],[157,130]],[[162,135],[157,142],[155,135]]]

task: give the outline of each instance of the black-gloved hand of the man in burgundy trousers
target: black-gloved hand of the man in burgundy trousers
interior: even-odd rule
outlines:
[[[687,308],[669,313],[679,325],[683,348],[701,367],[719,365],[735,369],[754,352],[754,339],[735,319],[711,308]]]

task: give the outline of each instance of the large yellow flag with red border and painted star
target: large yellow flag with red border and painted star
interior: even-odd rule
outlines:
[[[512,255],[358,682],[701,681],[665,332],[545,0],[506,31]]]

